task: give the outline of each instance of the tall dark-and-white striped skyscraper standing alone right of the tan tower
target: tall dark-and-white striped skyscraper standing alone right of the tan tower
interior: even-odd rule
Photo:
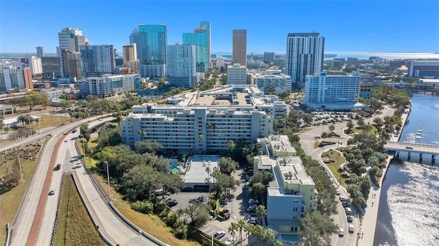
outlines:
[[[302,88],[307,75],[322,70],[324,37],[317,32],[292,33],[287,36],[285,73],[291,76],[293,84]]]

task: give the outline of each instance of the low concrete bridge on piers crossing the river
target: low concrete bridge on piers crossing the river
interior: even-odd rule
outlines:
[[[388,141],[385,143],[383,149],[385,151],[396,151],[396,157],[399,156],[400,151],[408,153],[410,160],[411,153],[419,153],[420,160],[423,158],[423,154],[430,154],[431,161],[434,162],[435,156],[439,155],[439,146],[437,145],[423,145],[419,143],[401,143]]]

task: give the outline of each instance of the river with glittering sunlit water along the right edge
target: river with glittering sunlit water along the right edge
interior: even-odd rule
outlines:
[[[416,132],[422,130],[420,139]],[[439,146],[439,96],[415,94],[400,142]],[[400,153],[390,164],[383,186],[373,245],[439,245],[439,156]],[[422,163],[422,164],[419,164]]]

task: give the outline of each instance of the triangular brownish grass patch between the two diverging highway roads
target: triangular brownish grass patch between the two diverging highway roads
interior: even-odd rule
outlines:
[[[54,245],[106,245],[82,203],[73,177],[64,177]]]

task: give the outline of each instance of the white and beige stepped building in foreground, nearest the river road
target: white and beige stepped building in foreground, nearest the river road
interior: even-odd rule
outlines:
[[[317,208],[315,184],[296,156],[288,136],[271,135],[258,142],[265,155],[254,157],[254,172],[268,171],[273,177],[267,188],[268,224],[276,232],[297,233],[300,218]]]

